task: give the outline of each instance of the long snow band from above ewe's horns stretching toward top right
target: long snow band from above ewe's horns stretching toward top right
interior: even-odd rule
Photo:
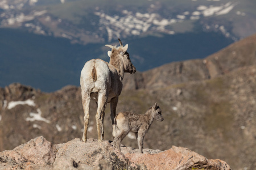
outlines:
[[[100,17],[100,29],[105,29],[108,33],[108,41],[112,41],[116,37],[139,36],[145,32],[163,32],[174,34],[174,30],[168,25],[183,22],[186,19],[198,20],[201,17],[218,16],[228,14],[233,10],[236,3],[228,2],[220,6],[196,7],[196,11],[185,11],[177,14],[174,18],[163,18],[156,13],[141,13],[123,10],[121,15],[110,16],[102,11],[94,14]]]

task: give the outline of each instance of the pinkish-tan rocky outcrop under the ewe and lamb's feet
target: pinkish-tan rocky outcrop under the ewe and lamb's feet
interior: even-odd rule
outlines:
[[[172,146],[166,151],[144,149],[145,154],[140,154],[122,146],[121,151],[111,141],[90,138],[85,143],[76,138],[53,145],[36,137],[14,150],[0,152],[0,169],[231,169],[222,160],[208,160],[183,147]]]

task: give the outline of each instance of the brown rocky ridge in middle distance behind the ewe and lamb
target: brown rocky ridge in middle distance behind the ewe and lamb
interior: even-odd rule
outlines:
[[[117,112],[144,113],[158,102],[163,122],[155,121],[144,148],[186,147],[209,159],[225,160],[235,169],[256,168],[256,35],[205,59],[175,62],[125,75]],[[163,76],[164,75],[164,76]],[[35,105],[11,101],[30,99]],[[92,102],[88,138],[97,138],[96,104]],[[36,113],[47,121],[27,121]],[[112,141],[109,105],[105,139]],[[0,88],[0,151],[43,135],[52,143],[81,138],[83,111],[79,87],[43,93],[22,84]],[[123,144],[137,148],[129,135]]]

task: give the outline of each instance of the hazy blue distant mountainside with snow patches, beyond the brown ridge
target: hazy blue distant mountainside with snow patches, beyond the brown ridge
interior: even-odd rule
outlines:
[[[50,92],[79,86],[83,64],[108,61],[105,44],[118,38],[129,43],[139,71],[204,58],[253,35],[255,7],[250,0],[3,1],[0,87],[20,82]]]

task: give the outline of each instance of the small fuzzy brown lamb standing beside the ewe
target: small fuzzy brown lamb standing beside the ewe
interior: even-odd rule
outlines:
[[[143,153],[143,139],[154,119],[161,122],[163,121],[162,111],[157,103],[144,114],[134,114],[130,112],[118,113],[114,122],[119,129],[119,134],[115,136],[113,146],[121,151],[121,141],[126,137],[129,131],[132,131],[135,133],[139,152]]]

